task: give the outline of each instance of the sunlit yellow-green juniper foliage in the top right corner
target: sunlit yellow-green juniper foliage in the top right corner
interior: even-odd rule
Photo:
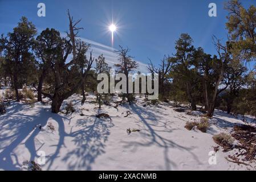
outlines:
[[[256,58],[256,7],[250,5],[245,9],[238,0],[230,0],[225,3],[225,9],[229,12],[226,28],[229,31],[231,51],[235,57],[243,59]]]

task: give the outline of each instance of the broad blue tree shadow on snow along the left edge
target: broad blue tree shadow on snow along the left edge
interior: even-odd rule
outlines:
[[[10,107],[7,107],[7,114],[0,116],[1,169],[18,170],[21,168],[22,164],[18,163],[18,156],[14,154],[14,150],[28,136],[25,146],[31,154],[31,160],[34,160],[36,156],[34,137],[39,133],[39,129],[33,128],[38,124],[46,125],[48,115],[44,108],[38,109],[31,115],[20,113],[26,109],[29,109],[29,106],[13,102]],[[7,140],[11,140],[11,143],[6,143]]]

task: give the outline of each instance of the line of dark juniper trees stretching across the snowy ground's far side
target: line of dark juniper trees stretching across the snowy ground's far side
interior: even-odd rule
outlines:
[[[227,113],[256,116],[255,70],[249,71],[246,63],[256,58],[256,7],[245,9],[238,0],[225,3],[228,39],[222,42],[212,36],[216,55],[205,53],[193,46],[189,34],[181,34],[175,42],[172,56],[164,56],[159,65],[148,63],[148,71],[159,74],[159,100],[174,101],[175,106],[189,103],[192,110],[198,105],[212,117],[214,109]],[[37,101],[49,98],[53,113],[58,113],[64,100],[74,93],[81,93],[86,100],[86,90],[96,91],[97,74],[106,73],[110,67],[104,55],[92,56],[90,44],[79,39],[79,20],[68,14],[66,37],[54,28],[46,28],[38,36],[32,22],[22,17],[13,32],[0,39],[0,77],[11,83],[15,100],[20,101],[19,89],[32,85]],[[130,49],[120,46],[116,51],[118,73],[128,77],[138,63],[129,55]],[[89,56],[88,56],[89,55]],[[92,65],[96,62],[95,69]],[[127,86],[128,89],[128,86]],[[129,104],[134,94],[123,94]],[[99,106],[101,106],[99,94]]]

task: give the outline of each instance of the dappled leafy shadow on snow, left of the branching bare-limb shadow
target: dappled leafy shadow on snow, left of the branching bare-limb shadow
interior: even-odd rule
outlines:
[[[109,127],[114,125],[105,119],[86,117],[86,119],[78,119],[76,126],[82,129],[71,131],[69,134],[70,137],[74,137],[72,141],[76,148],[68,152],[62,160],[67,163],[69,170],[91,170],[91,164],[95,162],[97,156],[104,153],[104,143],[110,134]]]

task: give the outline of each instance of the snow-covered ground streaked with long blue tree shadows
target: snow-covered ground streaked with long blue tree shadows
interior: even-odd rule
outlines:
[[[135,105],[101,110],[93,96],[81,106],[81,97],[68,101],[76,112],[70,115],[51,113],[50,105],[26,105],[11,102],[7,113],[0,116],[0,169],[20,170],[26,160],[35,162],[39,151],[46,154],[43,170],[241,170],[255,169],[227,162],[216,154],[217,164],[209,164],[214,134],[228,132],[240,119],[216,111],[207,133],[185,129],[186,121],[199,121],[200,116],[178,113],[170,104],[144,107]],[[63,104],[65,105],[65,104]],[[124,117],[127,111],[132,114]],[[84,115],[80,115],[83,113]],[[107,118],[96,118],[107,113]],[[47,127],[51,122],[55,131]],[[40,130],[36,125],[42,126]],[[127,129],[141,131],[127,134]]]

